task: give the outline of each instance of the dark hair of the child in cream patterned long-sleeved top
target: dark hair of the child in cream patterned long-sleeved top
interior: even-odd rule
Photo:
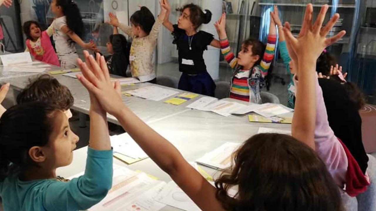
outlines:
[[[130,17],[130,22],[135,26],[140,26],[149,35],[155,23],[155,18],[147,7],[142,6],[140,10],[133,13]]]

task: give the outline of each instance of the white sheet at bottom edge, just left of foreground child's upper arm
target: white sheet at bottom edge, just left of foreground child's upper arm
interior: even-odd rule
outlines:
[[[168,182],[155,197],[158,202],[183,209],[186,211],[201,211],[201,209],[180,189],[175,182]]]

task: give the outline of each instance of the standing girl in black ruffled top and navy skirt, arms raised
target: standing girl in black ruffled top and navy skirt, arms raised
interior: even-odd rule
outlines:
[[[198,31],[201,24],[210,22],[212,13],[194,5],[193,3],[183,6],[177,24],[168,20],[171,6],[167,0],[163,0],[167,9],[167,18],[163,25],[172,32],[173,44],[176,44],[179,53],[179,71],[182,75],[179,80],[179,89],[195,92],[203,95],[214,96],[215,83],[206,71],[203,53],[208,45],[220,48],[219,41],[214,35]]]

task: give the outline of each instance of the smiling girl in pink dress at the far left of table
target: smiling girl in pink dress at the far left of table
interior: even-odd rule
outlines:
[[[52,25],[42,32],[38,22],[26,21],[22,28],[27,38],[25,51],[29,51],[36,60],[60,66],[50,40],[50,36],[53,35]]]

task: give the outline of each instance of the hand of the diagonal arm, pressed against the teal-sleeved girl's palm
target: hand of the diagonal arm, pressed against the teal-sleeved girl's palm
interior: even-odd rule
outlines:
[[[85,62],[77,59],[82,75],[77,74],[78,80],[88,89],[89,93],[96,96],[102,108],[112,114],[120,114],[124,107],[121,101],[120,84],[110,80],[105,58],[97,54],[96,59],[84,51]]]

